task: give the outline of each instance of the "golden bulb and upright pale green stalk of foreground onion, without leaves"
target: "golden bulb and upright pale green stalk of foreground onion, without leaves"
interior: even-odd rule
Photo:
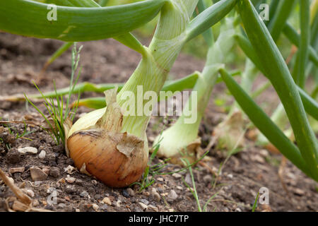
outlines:
[[[116,89],[107,90],[107,107],[90,112],[73,124],[67,149],[82,172],[113,187],[128,186],[141,177],[148,161],[146,127],[150,117],[124,115],[123,106],[126,97],[137,97],[139,85],[143,92],[159,93],[185,42],[184,31],[196,3],[174,0],[163,6],[153,40],[148,48],[142,47],[143,58],[122,90],[118,95]],[[140,106],[136,99],[134,103],[137,112]]]

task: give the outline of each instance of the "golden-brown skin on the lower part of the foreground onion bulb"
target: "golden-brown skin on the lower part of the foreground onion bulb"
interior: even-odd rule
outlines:
[[[116,188],[137,182],[148,162],[143,140],[128,133],[78,131],[68,138],[67,147],[78,169],[85,164],[86,172]]]

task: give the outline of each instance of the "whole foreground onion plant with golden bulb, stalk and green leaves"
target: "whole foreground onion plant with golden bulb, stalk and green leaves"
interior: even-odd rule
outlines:
[[[198,2],[193,0],[147,0],[110,7],[101,7],[93,0],[47,2],[57,4],[57,20],[46,19],[47,4],[28,0],[1,1],[0,29],[66,42],[113,37],[142,55],[136,71],[119,93],[116,88],[106,91],[107,107],[86,114],[65,131],[66,150],[81,172],[93,174],[110,186],[136,182],[148,160],[146,127],[150,116],[124,114],[126,98],[136,97],[139,85],[143,92],[158,93],[183,45],[217,23],[237,1],[219,1],[193,20],[191,16]],[[159,12],[153,40],[149,47],[144,47],[129,32]],[[32,23],[25,26],[28,21]],[[137,100],[134,104],[129,110],[137,112],[140,107],[143,109],[146,101],[142,106]]]

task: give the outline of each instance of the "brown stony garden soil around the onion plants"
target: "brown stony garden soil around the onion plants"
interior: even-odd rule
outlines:
[[[16,35],[0,33],[0,96],[17,93],[37,93],[32,81],[49,56],[61,45],[54,40],[37,40]],[[53,89],[52,80],[57,88],[69,85],[71,73],[70,51],[63,54],[45,73],[45,81],[40,84],[42,91]],[[134,71],[141,57],[134,51],[114,40],[101,40],[83,43],[81,52],[80,81],[93,83],[125,82]],[[172,78],[181,78],[193,71],[200,71],[204,61],[181,54],[171,71]],[[259,83],[264,82],[260,79]],[[216,85],[214,97],[226,97],[223,84]],[[86,93],[81,97],[98,96]],[[266,111],[271,112],[277,105],[273,90],[267,90],[257,100]],[[266,105],[264,104],[266,103]],[[38,104],[40,105],[40,104]],[[41,109],[44,110],[42,106]],[[79,115],[90,111],[80,107]],[[215,126],[225,118],[224,107],[214,105],[211,100],[206,110],[206,118],[201,124],[199,135],[202,148],[211,141]],[[1,120],[23,121],[25,119],[42,121],[33,107],[25,107],[24,102],[0,102]],[[148,126],[150,144],[160,133],[163,126],[172,124],[174,118],[153,117]],[[23,133],[23,124],[10,124],[11,128]],[[0,167],[11,177],[15,184],[33,199],[33,206],[54,211],[197,211],[196,200],[187,186],[192,184],[189,171],[177,174],[158,175],[155,183],[138,192],[139,186],[126,189],[112,189],[92,177],[80,172],[66,172],[73,161],[66,157],[64,147],[56,145],[52,138],[37,126],[27,126],[32,133],[11,142],[11,149],[0,146]],[[18,148],[34,147],[37,154],[20,155]],[[39,153],[45,150],[45,158]],[[269,205],[258,205],[256,211],[317,211],[317,183],[305,176],[299,169],[287,162],[281,167],[285,188],[278,177],[281,155],[273,154],[254,145],[245,136],[245,146],[240,153],[232,155],[223,165],[225,154],[213,146],[208,156],[194,167],[196,190],[201,206],[211,196],[216,196],[207,206],[207,211],[251,211],[261,187],[269,189]],[[155,162],[159,162],[155,158]],[[203,163],[202,163],[203,162]],[[13,168],[24,167],[23,172],[13,173]],[[39,167],[49,175],[41,182],[33,182],[30,168]],[[177,165],[167,165],[165,172],[180,169]],[[184,180],[183,180],[184,179]],[[52,191],[56,191],[56,202],[48,202]],[[14,196],[11,189],[0,181],[0,211],[12,207],[8,199]]]

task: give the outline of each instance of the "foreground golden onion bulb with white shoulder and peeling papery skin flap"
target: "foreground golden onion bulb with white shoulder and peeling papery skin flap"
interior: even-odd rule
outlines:
[[[66,152],[81,172],[107,186],[124,187],[141,178],[148,161],[148,143],[122,132],[123,114],[116,94],[117,89],[107,90],[107,107],[76,121],[67,136]]]

